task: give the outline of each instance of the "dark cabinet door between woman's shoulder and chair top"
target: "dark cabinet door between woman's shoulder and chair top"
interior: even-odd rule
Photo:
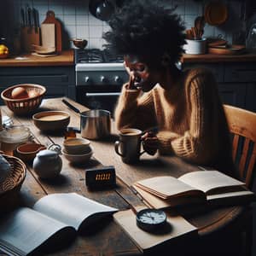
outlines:
[[[218,91],[224,104],[246,107],[247,84],[218,84]]]

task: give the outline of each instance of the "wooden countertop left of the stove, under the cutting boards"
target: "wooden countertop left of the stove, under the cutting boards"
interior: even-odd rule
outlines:
[[[24,59],[17,59],[24,57]],[[6,59],[0,59],[0,67],[42,67],[42,66],[73,66],[73,50],[64,50],[59,55],[50,57],[35,56],[32,54],[9,55]]]

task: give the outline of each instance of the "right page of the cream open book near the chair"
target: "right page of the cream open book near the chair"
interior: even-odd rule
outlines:
[[[218,171],[189,172],[178,177],[178,180],[204,191],[207,195],[245,189],[245,183]]]

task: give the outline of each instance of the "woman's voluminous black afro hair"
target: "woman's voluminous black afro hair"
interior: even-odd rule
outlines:
[[[183,22],[163,1],[128,0],[108,20],[103,34],[105,47],[121,55],[137,55],[157,60],[168,56],[170,63],[183,53]]]

